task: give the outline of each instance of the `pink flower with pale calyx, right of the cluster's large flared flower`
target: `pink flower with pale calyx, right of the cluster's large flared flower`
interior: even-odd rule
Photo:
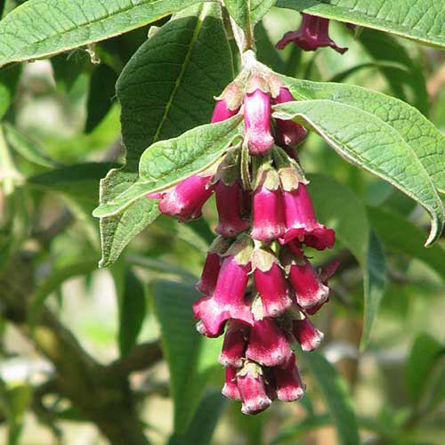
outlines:
[[[258,258],[259,256],[259,258]],[[286,279],[275,257],[264,250],[255,250],[255,285],[263,303],[264,317],[279,317],[292,305]]]

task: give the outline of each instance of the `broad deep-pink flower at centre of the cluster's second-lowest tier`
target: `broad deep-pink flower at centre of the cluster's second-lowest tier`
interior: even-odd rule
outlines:
[[[271,319],[255,320],[246,351],[246,357],[263,366],[282,366],[287,363],[292,350],[287,338]]]

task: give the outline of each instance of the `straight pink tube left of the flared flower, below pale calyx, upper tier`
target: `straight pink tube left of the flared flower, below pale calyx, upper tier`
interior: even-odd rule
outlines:
[[[270,243],[286,231],[281,190],[268,190],[260,185],[254,192],[254,227],[252,238]]]

